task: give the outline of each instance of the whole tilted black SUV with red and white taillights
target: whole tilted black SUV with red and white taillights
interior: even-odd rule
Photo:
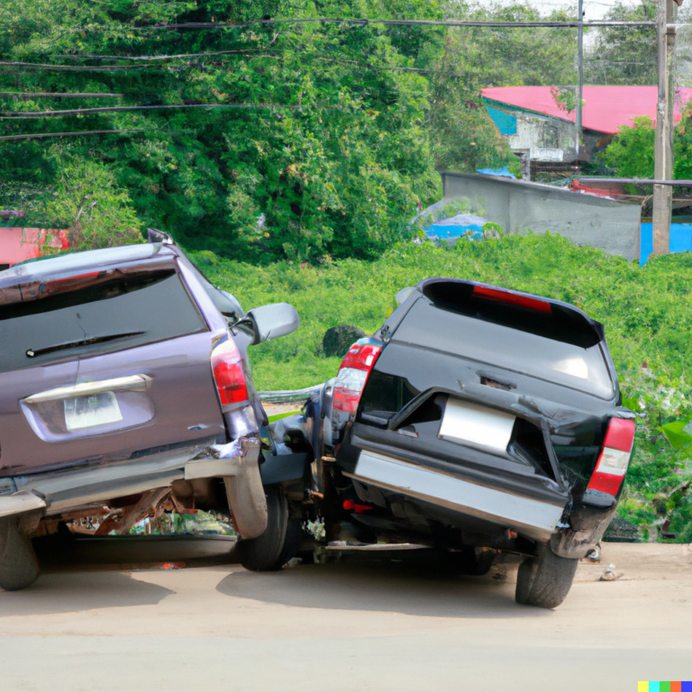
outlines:
[[[603,325],[459,279],[397,298],[312,403],[328,538],[427,544],[471,574],[518,554],[516,601],[560,605],[633,449]]]

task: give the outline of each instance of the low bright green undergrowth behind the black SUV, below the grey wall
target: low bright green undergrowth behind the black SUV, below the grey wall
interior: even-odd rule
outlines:
[[[678,540],[692,540],[692,491],[685,495],[685,484],[692,480],[692,451],[686,449],[692,437],[687,440],[682,431],[692,420],[687,372],[692,359],[692,253],[652,257],[640,269],[602,250],[578,248],[546,234],[459,241],[451,249],[400,243],[371,263],[278,262],[259,268],[211,252],[196,253],[194,259],[245,309],[282,300],[296,306],[300,329],[250,352],[259,389],[308,387],[333,377],[339,359],[323,358],[324,332],[340,323],[374,332],[395,307],[396,292],[425,277],[487,281],[578,305],[605,323],[625,405],[640,414],[621,511],[651,537],[670,521],[668,530]],[[660,430],[676,421],[683,423]]]

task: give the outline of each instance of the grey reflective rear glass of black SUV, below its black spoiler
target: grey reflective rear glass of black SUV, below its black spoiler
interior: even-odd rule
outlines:
[[[584,348],[526,331],[522,323],[494,323],[441,309],[425,299],[406,314],[393,341],[514,370],[604,399],[614,392],[600,342]]]

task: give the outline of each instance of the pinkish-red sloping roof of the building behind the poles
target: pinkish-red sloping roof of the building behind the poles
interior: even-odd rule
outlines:
[[[574,123],[576,114],[566,114],[552,96],[554,87],[488,87],[480,95],[506,105],[552,115]],[[648,115],[656,120],[657,87],[584,87],[584,127],[597,132],[615,134],[623,125]],[[692,99],[692,89],[676,89],[675,120],[680,119],[681,106]]]

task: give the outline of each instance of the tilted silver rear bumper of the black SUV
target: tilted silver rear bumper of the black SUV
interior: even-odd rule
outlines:
[[[473,483],[443,471],[363,450],[352,472],[363,483],[478,517],[538,542],[558,531],[564,504],[553,504],[496,487]]]

